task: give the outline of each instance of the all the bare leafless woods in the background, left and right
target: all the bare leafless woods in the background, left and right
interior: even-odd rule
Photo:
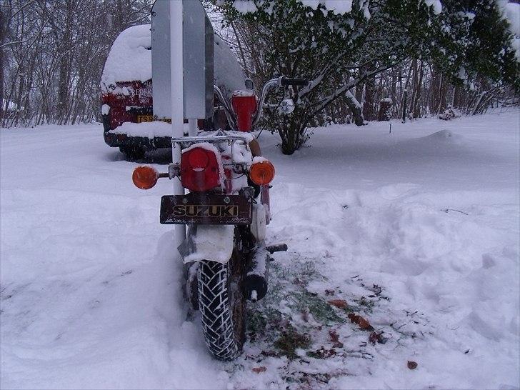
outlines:
[[[100,120],[99,80],[116,36],[149,23],[151,0],[1,0],[0,125],[75,124]],[[262,59],[258,26],[245,21],[221,26],[218,7],[205,1],[215,30],[234,49],[257,86],[274,76]],[[358,71],[367,71],[358,66]],[[301,75],[311,76],[311,75]],[[351,92],[364,120],[419,118],[449,106],[481,114],[490,106],[518,104],[514,89],[486,77],[454,84],[431,61],[409,58],[367,77]],[[339,96],[311,124],[354,121],[347,96]],[[381,101],[391,101],[388,111]],[[384,102],[383,102],[384,104]],[[381,117],[384,116],[384,118]]]

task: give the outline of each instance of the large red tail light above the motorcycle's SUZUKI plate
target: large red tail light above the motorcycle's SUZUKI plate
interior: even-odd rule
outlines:
[[[214,151],[195,147],[181,158],[181,182],[191,191],[208,191],[220,185],[219,161]]]

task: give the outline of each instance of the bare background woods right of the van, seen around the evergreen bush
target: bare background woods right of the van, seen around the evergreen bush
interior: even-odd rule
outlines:
[[[267,48],[254,38],[257,36],[254,30],[251,25],[231,21],[229,29],[223,29],[221,34],[224,41],[234,48],[246,76],[261,85],[271,78],[272,69],[267,69],[262,63],[263,51]],[[364,70],[360,69],[361,72]],[[511,86],[494,85],[485,76],[479,77],[471,86],[461,86],[436,69],[431,61],[411,58],[371,76],[351,92],[363,106],[362,114],[367,121],[383,119],[379,111],[384,99],[391,101],[386,118],[394,119],[403,115],[406,119],[435,116],[448,107],[455,107],[460,114],[483,114],[491,107],[520,103]],[[340,98],[326,108],[324,120],[336,124],[350,123],[353,121],[352,111]]]

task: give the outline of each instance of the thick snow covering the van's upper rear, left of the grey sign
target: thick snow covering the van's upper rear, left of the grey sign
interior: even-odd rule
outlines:
[[[108,91],[118,81],[151,79],[151,33],[149,24],[132,26],[114,41],[101,75],[101,90]]]

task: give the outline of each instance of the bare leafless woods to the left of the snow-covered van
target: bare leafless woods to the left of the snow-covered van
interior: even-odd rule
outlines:
[[[106,56],[121,31],[149,23],[151,1],[1,1],[1,126],[99,120]]]

